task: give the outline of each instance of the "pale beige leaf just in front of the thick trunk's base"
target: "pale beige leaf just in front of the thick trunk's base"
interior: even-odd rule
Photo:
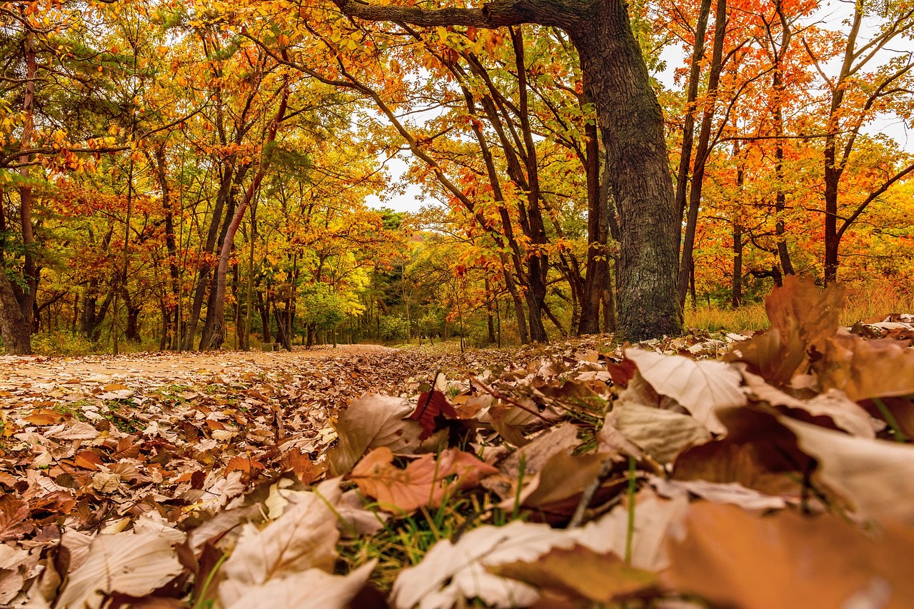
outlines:
[[[726,362],[664,356],[638,348],[625,349],[625,357],[638,367],[644,380],[657,393],[682,404],[712,433],[726,433],[714,411],[742,406],[746,396],[740,389],[739,370]]]

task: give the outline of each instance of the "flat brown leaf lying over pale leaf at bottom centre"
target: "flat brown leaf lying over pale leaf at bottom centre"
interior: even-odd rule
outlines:
[[[575,545],[554,548],[536,561],[515,561],[489,567],[496,575],[525,582],[540,590],[561,593],[568,600],[611,603],[620,597],[652,590],[657,576],[635,569],[615,554],[598,554]]]

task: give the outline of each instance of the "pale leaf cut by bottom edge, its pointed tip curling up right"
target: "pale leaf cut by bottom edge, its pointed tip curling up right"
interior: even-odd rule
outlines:
[[[228,609],[345,609],[365,587],[377,559],[348,575],[320,569],[288,573],[251,586]]]

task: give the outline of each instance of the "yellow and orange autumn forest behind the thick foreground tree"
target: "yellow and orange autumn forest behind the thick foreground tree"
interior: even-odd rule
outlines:
[[[911,123],[914,3],[628,11],[664,112],[686,323],[761,325],[796,272],[848,283],[848,315],[914,309],[914,155],[882,133]],[[7,353],[616,329],[631,220],[558,27],[5,1],[0,32]],[[408,185],[436,203],[368,207]]]

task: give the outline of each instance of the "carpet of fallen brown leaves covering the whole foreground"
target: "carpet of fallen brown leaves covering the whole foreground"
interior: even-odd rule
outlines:
[[[852,334],[842,302],[789,278],[753,337],[537,347],[347,408],[326,360],[69,415],[10,391],[0,604],[909,606],[912,320]]]

